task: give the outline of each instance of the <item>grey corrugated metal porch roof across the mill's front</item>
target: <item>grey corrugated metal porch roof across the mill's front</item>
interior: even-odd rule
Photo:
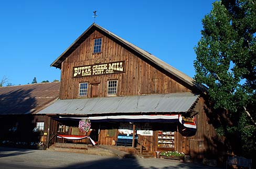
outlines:
[[[192,93],[171,93],[57,100],[38,114],[92,115],[187,112],[197,99],[198,95]]]

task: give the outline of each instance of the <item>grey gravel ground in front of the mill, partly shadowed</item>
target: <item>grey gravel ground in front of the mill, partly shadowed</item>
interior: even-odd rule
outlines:
[[[49,150],[29,150],[0,147],[0,163],[25,165],[33,168],[209,168],[193,163],[168,159],[119,158]],[[0,165],[1,168],[1,165]],[[219,168],[218,168],[219,169]]]

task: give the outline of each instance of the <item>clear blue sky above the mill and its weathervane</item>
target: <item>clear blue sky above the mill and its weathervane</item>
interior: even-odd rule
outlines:
[[[0,80],[60,80],[60,70],[50,64],[93,23],[94,10],[98,25],[194,77],[193,48],[213,2],[1,1]]]

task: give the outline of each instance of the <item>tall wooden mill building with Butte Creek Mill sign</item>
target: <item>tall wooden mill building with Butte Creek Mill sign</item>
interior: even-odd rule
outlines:
[[[48,116],[49,137],[80,135],[101,145],[176,150],[202,159],[215,152],[207,123],[206,88],[114,33],[93,23],[51,66],[61,69],[59,99],[38,112]],[[82,141],[81,141],[82,142]]]

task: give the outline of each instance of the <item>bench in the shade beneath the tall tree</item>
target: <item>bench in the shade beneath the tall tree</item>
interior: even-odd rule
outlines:
[[[229,165],[236,165],[237,167],[246,167],[251,169],[252,159],[246,159],[243,158],[242,156],[228,157],[228,160],[226,162],[226,168],[228,168]]]

